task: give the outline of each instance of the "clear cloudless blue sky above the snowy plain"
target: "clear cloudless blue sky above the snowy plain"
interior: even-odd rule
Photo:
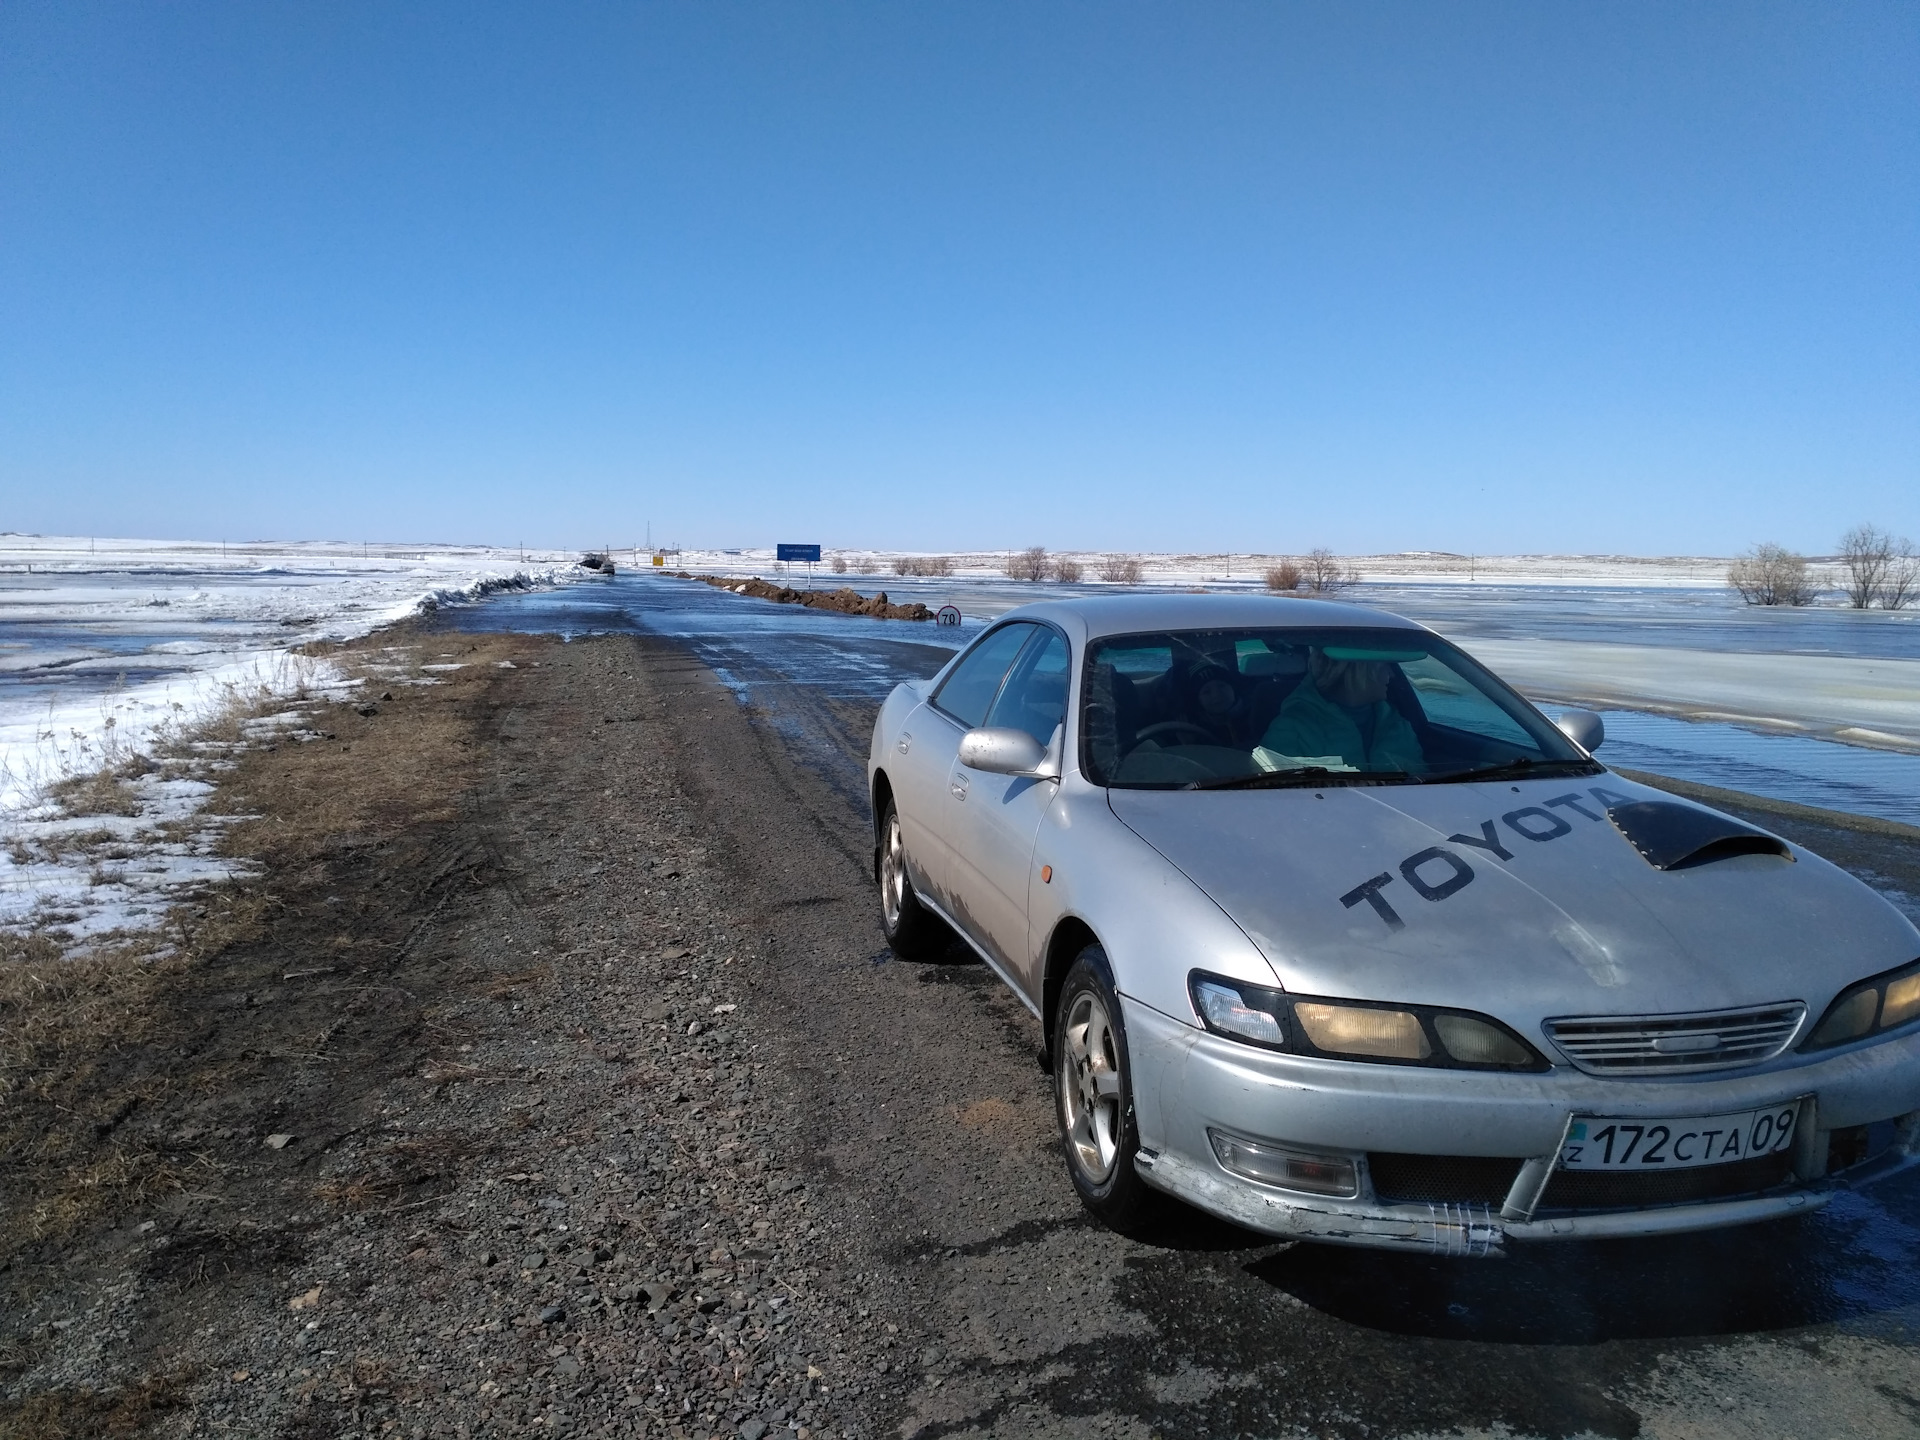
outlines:
[[[1920,538],[1912,4],[0,6],[0,528]]]

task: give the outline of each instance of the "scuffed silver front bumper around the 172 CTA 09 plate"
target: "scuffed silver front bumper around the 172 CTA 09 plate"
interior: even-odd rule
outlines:
[[[1313,1060],[1210,1035],[1131,996],[1121,1006],[1140,1175],[1200,1210],[1286,1238],[1496,1254],[1505,1240],[1718,1229],[1812,1213],[1837,1188],[1920,1158],[1920,1035],[1761,1071],[1634,1081],[1567,1066],[1511,1075]],[[1569,1116],[1659,1119],[1786,1104],[1801,1106],[1799,1140],[1782,1183],[1764,1192],[1578,1212],[1540,1204]],[[1828,1175],[1830,1137],[1878,1121],[1899,1121],[1893,1142],[1870,1164]],[[1329,1198],[1250,1181],[1219,1162],[1210,1129],[1350,1156],[1359,1192]],[[1509,1196],[1482,1202],[1390,1200],[1369,1179],[1375,1152],[1507,1158],[1517,1181]]]

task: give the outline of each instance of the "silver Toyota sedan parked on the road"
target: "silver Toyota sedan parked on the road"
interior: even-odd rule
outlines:
[[[1068,1171],[1440,1254],[1811,1213],[1920,1150],[1920,931],[1379,611],[1018,609],[874,726],[893,948],[1041,1018]]]

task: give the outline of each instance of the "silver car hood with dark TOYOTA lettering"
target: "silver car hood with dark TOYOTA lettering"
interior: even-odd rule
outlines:
[[[1657,868],[1607,810],[1682,803],[1615,774],[1108,803],[1296,995],[1463,1006],[1536,1031],[1567,1014],[1818,1012],[1920,954],[1899,910],[1801,847]]]

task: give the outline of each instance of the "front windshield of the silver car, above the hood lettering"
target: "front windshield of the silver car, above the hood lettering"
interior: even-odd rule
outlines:
[[[1096,785],[1436,783],[1597,770],[1538,710],[1421,630],[1181,630],[1087,651]]]

